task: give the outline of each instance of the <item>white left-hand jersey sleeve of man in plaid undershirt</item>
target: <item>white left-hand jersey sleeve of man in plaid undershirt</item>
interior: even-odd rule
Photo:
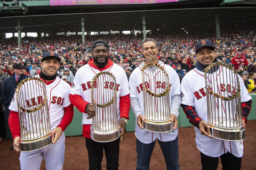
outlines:
[[[193,90],[191,89],[191,81],[189,82],[188,75],[185,75],[181,81],[181,95],[181,104],[195,107]]]

